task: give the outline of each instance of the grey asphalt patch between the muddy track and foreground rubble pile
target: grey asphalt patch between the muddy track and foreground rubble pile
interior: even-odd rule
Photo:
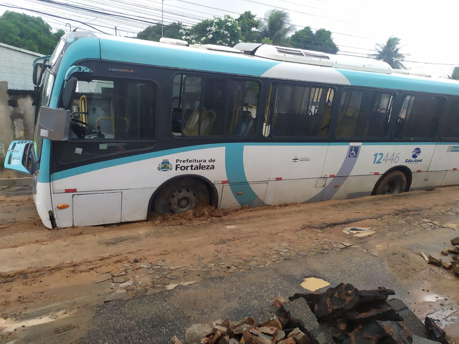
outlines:
[[[358,289],[383,286],[408,301],[406,289],[386,271],[380,258],[348,248],[105,303],[97,309],[82,343],[167,343],[173,335],[183,340],[186,328],[195,323],[211,323],[226,316],[235,321],[257,317],[269,310],[278,294],[287,297],[305,292],[300,283],[311,276],[324,278],[332,286],[341,282]]]

